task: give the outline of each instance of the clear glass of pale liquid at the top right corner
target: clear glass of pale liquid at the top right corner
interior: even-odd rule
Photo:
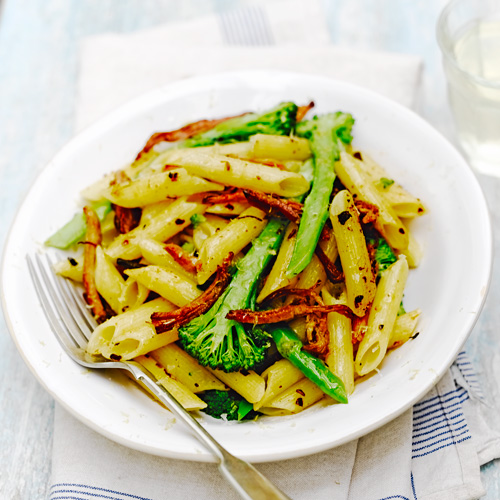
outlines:
[[[437,39],[460,144],[473,168],[500,177],[500,1],[452,0]]]

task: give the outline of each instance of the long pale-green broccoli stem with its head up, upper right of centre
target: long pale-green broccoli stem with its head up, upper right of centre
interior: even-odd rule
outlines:
[[[297,240],[288,266],[289,277],[303,271],[312,259],[319,236],[328,218],[328,204],[335,181],[334,164],[352,141],[354,119],[337,112],[297,124],[297,134],[309,139],[314,159],[312,188],[306,197]]]

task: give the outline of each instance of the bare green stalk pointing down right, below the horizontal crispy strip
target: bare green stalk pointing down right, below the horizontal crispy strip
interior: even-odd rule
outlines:
[[[269,325],[270,333],[279,353],[325,394],[339,403],[347,403],[344,383],[318,358],[302,349],[303,345],[295,332],[284,324]]]

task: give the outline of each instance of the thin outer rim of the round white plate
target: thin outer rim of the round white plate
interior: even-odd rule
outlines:
[[[472,185],[476,191],[476,195],[479,196],[479,199],[482,201],[481,207],[479,207],[483,212],[485,212],[485,215],[487,216],[487,224],[485,227],[485,237],[486,240],[488,240],[489,245],[486,245],[487,250],[488,250],[488,255],[489,259],[487,259],[486,262],[484,262],[484,274],[487,275],[487,283],[486,283],[486,290],[482,294],[480,303],[477,304],[477,312],[475,313],[473,319],[469,321],[467,324],[467,333],[464,335],[463,344],[466,342],[467,338],[469,337],[470,333],[472,332],[472,329],[474,328],[474,325],[476,324],[480,313],[482,311],[482,308],[484,306],[486,296],[487,296],[487,290],[490,286],[491,283],[491,277],[492,277],[492,264],[493,264],[493,233],[492,233],[492,221],[491,217],[489,214],[489,209],[488,209],[488,204],[484,195],[484,192],[474,176],[472,170],[470,169],[470,166],[467,164],[465,159],[460,155],[460,153],[457,151],[457,149],[446,139],[439,131],[437,131],[432,125],[430,125],[426,120],[424,120],[420,115],[415,113],[413,110],[406,108],[402,106],[401,104],[392,101],[391,99],[382,96],[370,89],[366,89],[364,87],[360,87],[359,85],[354,85],[348,82],[340,81],[340,80],[334,80],[328,77],[323,77],[323,76],[318,76],[318,75],[310,75],[310,74],[301,74],[301,73],[295,73],[295,72],[284,72],[284,71],[267,71],[267,70],[247,70],[247,71],[231,71],[231,72],[223,72],[223,73],[216,73],[212,75],[205,75],[205,76],[198,76],[198,77],[193,77],[189,78],[186,80],[182,81],[177,81],[173,83],[169,83],[167,85],[163,85],[161,87],[152,89],[130,101],[127,103],[121,105],[117,109],[111,111],[110,113],[107,113],[105,116],[97,120],[96,122],[88,125],[84,129],[82,129],[80,132],[78,132],[76,135],[74,135],[72,138],[70,138],[59,150],[58,152],[53,156],[53,158],[43,167],[41,168],[38,172],[35,178],[33,179],[32,183],[30,184],[30,187],[26,190],[25,195],[22,199],[22,201],[18,204],[18,207],[16,209],[14,218],[12,219],[9,231],[7,233],[7,237],[5,240],[4,244],[4,251],[2,252],[2,262],[1,262],[1,268],[0,268],[0,289],[2,291],[1,295],[1,301],[2,301],[2,308],[4,311],[4,317],[6,320],[6,324],[10,333],[11,338],[13,339],[16,348],[18,352],[21,354],[21,357],[23,358],[24,362],[27,364],[29,367],[30,371],[35,375],[36,379],[42,384],[42,386],[49,392],[56,401],[58,401],[62,406],[68,410],[73,416],[75,416],[78,420],[83,422],[85,425],[88,427],[92,428],[93,430],[99,432],[101,435],[104,435],[110,439],[112,439],[115,442],[119,442],[120,444],[123,444],[127,447],[143,451],[146,453],[154,454],[154,455],[160,455],[160,456],[167,456],[171,457],[174,459],[188,459],[188,460],[195,460],[195,461],[213,461],[212,457],[210,455],[192,455],[192,454],[185,454],[185,453],[175,453],[172,451],[168,451],[167,453],[162,452],[161,450],[151,448],[150,446],[147,445],[142,445],[141,443],[135,443],[131,442],[130,440],[125,439],[124,437],[117,435],[113,432],[109,432],[106,429],[103,429],[102,427],[96,425],[93,421],[85,418],[85,416],[81,415],[78,413],[73,407],[68,405],[66,401],[62,400],[59,395],[57,394],[56,391],[52,390],[46,383],[46,381],[42,378],[42,376],[36,371],[35,366],[32,365],[30,362],[27,353],[24,352],[24,350],[21,348],[21,345],[19,344],[19,339],[17,338],[15,334],[15,327],[12,321],[12,318],[9,313],[9,308],[7,307],[7,298],[6,298],[6,283],[4,282],[4,277],[5,277],[5,268],[7,265],[8,261],[8,255],[9,255],[9,246],[11,244],[11,238],[15,230],[15,224],[20,216],[20,213],[23,209],[23,207],[26,204],[26,201],[31,193],[31,191],[35,188],[36,184],[38,183],[39,179],[46,174],[46,172],[50,169],[50,166],[52,164],[56,164],[58,162],[58,158],[60,156],[63,156],[67,150],[71,150],[71,147],[77,148],[78,144],[80,141],[85,141],[86,139],[89,140],[91,139],[92,135],[99,135],[102,133],[103,130],[109,129],[110,127],[113,126],[113,123],[116,124],[117,121],[120,121],[120,117],[122,115],[129,115],[133,114],[134,110],[136,110],[137,107],[142,107],[144,106],[144,103],[149,102],[155,95],[162,95],[162,94],[175,94],[176,91],[178,91],[181,88],[186,87],[189,85],[199,84],[203,82],[220,82],[221,80],[225,78],[240,78],[240,79],[245,79],[245,78],[250,78],[250,79],[259,79],[266,77],[268,78],[269,75],[277,76],[278,78],[286,78],[288,77],[299,77],[303,79],[313,79],[316,81],[322,81],[324,83],[333,83],[334,85],[344,87],[344,88],[349,88],[349,89],[354,89],[357,90],[361,93],[364,93],[365,95],[368,95],[372,99],[375,99],[377,101],[381,101],[384,105],[392,106],[397,108],[399,111],[403,111],[403,113],[409,113],[412,115],[413,119],[416,119],[417,122],[419,123],[420,126],[423,126],[424,129],[427,129],[430,133],[434,134],[435,136],[439,136],[440,141],[443,144],[446,144],[446,147],[449,150],[449,153],[452,153],[455,156],[455,159],[457,159],[462,167],[463,172],[467,172],[467,175],[469,176],[469,180],[472,182]],[[183,94],[183,92],[181,92]],[[188,94],[184,94],[188,95]],[[458,354],[459,350],[457,353],[453,353],[453,355],[450,355],[447,359],[446,364],[442,365],[441,370],[437,372],[436,376],[434,377],[434,382],[433,383],[428,383],[426,387],[421,389],[420,391],[416,392],[414,396],[405,402],[404,405],[401,405],[399,408],[395,409],[393,412],[390,414],[387,414],[385,418],[380,419],[377,422],[374,422],[370,426],[366,426],[363,429],[358,429],[357,431],[353,431],[350,433],[347,433],[342,439],[337,439],[335,443],[324,443],[323,445],[318,445],[312,448],[307,448],[307,449],[301,449],[298,451],[295,451],[293,453],[290,452],[277,452],[274,453],[273,455],[265,454],[263,456],[252,456],[251,460],[252,462],[264,462],[264,461],[277,461],[277,460],[284,460],[284,459],[289,459],[293,457],[300,457],[300,456],[306,456],[306,455],[311,455],[313,453],[317,453],[319,451],[324,451],[326,449],[330,449],[333,447],[340,446],[342,444],[345,444],[346,442],[349,442],[353,439],[356,439],[362,435],[368,434],[369,432],[372,432],[373,430],[381,427],[385,423],[388,423],[389,421],[393,420],[397,416],[401,415],[404,411],[409,409],[415,402],[417,402],[421,397],[427,393],[428,390],[430,390],[431,387],[434,386],[435,383],[442,377],[442,375],[446,372],[446,370],[449,368],[449,366],[452,364],[456,354]],[[240,455],[241,456],[241,455]]]

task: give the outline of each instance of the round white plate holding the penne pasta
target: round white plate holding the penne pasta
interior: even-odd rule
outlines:
[[[35,296],[25,254],[39,250],[73,215],[82,187],[133,159],[151,133],[311,99],[318,113],[351,112],[356,147],[379,160],[429,209],[412,226],[425,257],[411,272],[404,299],[407,310],[423,311],[420,335],[359,384],[348,405],[320,405],[292,417],[236,424],[204,417],[206,427],[231,452],[253,462],[303,456],[395,418],[450,366],[484,302],[492,259],[486,203],[462,157],[417,115],[367,90],[293,73],[228,73],[155,90],[89,127],[42,171],[13,223],[2,276],[12,337],[40,382],[82,422],[131,448],[211,460],[181,424],[126,377],[84,370],[63,353]]]

